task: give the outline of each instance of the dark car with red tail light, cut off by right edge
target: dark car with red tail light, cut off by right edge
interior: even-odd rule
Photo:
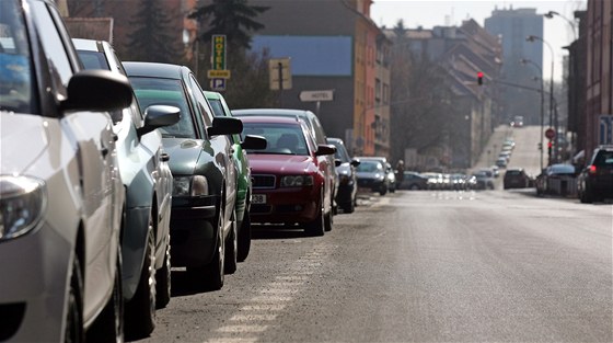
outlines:
[[[577,178],[577,193],[581,203],[613,197],[613,147],[594,149],[590,163]]]

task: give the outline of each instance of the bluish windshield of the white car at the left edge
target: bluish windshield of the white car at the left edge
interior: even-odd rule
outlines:
[[[0,1],[0,110],[35,113],[30,48],[16,1]]]

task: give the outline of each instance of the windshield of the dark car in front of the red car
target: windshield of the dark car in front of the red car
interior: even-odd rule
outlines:
[[[162,137],[196,138],[192,112],[180,80],[131,77],[140,111],[151,105],[170,105],[181,110],[178,123],[159,128]]]

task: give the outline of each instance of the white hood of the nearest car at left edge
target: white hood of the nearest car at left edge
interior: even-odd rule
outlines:
[[[2,113],[0,122],[0,173],[23,174],[47,149],[49,126],[37,115]]]

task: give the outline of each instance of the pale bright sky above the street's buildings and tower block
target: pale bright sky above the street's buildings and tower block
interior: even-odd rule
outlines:
[[[491,0],[374,0],[370,8],[370,16],[380,26],[393,27],[398,20],[404,21],[404,26],[415,28],[432,28],[437,25],[461,25],[466,19],[474,19],[484,26],[485,19],[491,16],[491,11],[502,9],[536,9],[536,13],[543,14],[555,11],[560,16],[553,19],[543,18],[543,39],[553,49],[554,55],[554,79],[562,80],[562,61],[567,55],[564,46],[574,41],[571,24],[574,11],[587,9],[587,0],[540,0],[540,1],[491,1]],[[564,18],[567,20],[565,20]],[[578,34],[577,22],[575,30]],[[543,47],[543,66],[551,65],[552,53],[548,47]],[[546,68],[548,70],[548,68]],[[550,76],[544,76],[548,79]]]

